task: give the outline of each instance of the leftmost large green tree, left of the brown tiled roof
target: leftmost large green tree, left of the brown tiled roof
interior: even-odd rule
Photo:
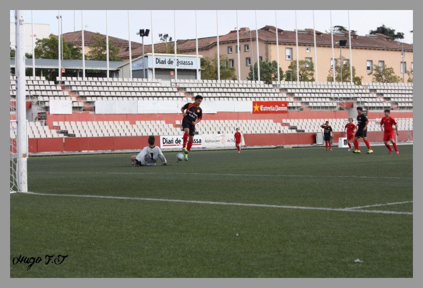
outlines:
[[[63,59],[82,59],[81,47],[74,47],[63,38]],[[58,59],[58,37],[50,34],[48,38],[38,39],[35,46],[35,58]]]

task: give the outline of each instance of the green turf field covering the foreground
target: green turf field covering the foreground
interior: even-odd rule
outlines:
[[[413,147],[399,149],[32,157],[29,191],[54,196],[11,194],[10,275],[412,277]]]

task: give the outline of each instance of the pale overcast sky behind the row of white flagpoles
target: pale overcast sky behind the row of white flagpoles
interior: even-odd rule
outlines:
[[[195,38],[194,11],[178,10],[176,12],[176,35],[178,39]],[[61,10],[63,17],[63,33],[74,31],[74,10]],[[49,24],[50,33],[58,33],[57,10],[36,11],[34,10],[34,23]],[[348,27],[346,10],[332,11],[332,24]],[[14,22],[14,11],[10,12],[11,22]],[[169,10],[153,11],[154,42],[159,42],[159,33],[168,33],[174,37],[174,12]],[[385,24],[396,32],[403,32],[404,42],[412,43],[413,12],[408,10],[356,10],[349,12],[351,30],[358,31],[359,35],[369,34],[370,30]],[[128,18],[126,10],[109,10],[109,36],[128,39]],[[31,22],[31,12],[26,11],[25,22]],[[238,11],[239,27],[255,29],[255,12],[251,10]],[[268,10],[257,11],[257,27],[275,25],[275,12]],[[283,30],[295,29],[295,11],[278,10],[277,25]],[[312,11],[297,11],[298,29],[313,28]],[[81,30],[81,10],[75,11],[75,30]],[[84,11],[84,26],[93,32],[106,34],[106,12],[104,10]],[[236,27],[236,11],[219,11],[219,34],[223,35]],[[330,28],[330,12],[328,10],[315,11],[316,30],[324,32]],[[141,42],[135,33],[139,29],[151,29],[150,11],[130,11],[130,37],[132,41]],[[216,11],[197,11],[198,38],[215,36],[217,33]],[[151,36],[151,35],[150,35]],[[145,39],[145,44],[151,44],[151,37]]]

